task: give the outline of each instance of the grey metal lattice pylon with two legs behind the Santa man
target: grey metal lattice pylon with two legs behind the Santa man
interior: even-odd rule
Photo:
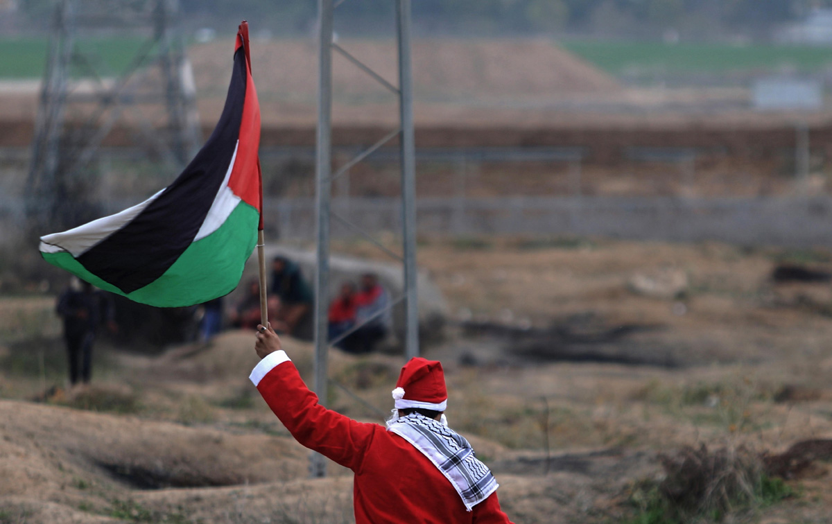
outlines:
[[[319,77],[318,77],[318,131],[316,140],[318,256],[315,274],[315,373],[314,389],[321,401],[327,397],[327,309],[329,304],[329,221],[338,220],[359,235],[379,246],[403,265],[404,293],[394,299],[390,307],[404,301],[405,304],[405,353],[407,358],[417,357],[418,304],[416,294],[416,161],[413,121],[413,82],[410,61],[410,0],[394,0],[396,5],[396,44],[399,58],[398,87],[374,72],[333,41],[334,9],[347,0],[318,0],[319,12]],[[392,91],[399,101],[399,126],[372,146],[360,152],[350,161],[332,172],[332,57],[333,51],[354,64],[370,78]],[[401,194],[402,194],[402,248],[404,255],[397,255],[375,240],[364,230],[346,218],[330,210],[332,184],[340,176],[348,175],[349,168],[372,155],[394,138],[399,138]],[[346,336],[346,335],[344,335]],[[343,337],[342,337],[343,338]],[[312,477],[324,477],[326,462],[323,456],[313,454],[310,462]]]

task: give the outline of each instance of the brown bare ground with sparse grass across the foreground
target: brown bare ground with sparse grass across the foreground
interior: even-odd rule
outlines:
[[[419,264],[453,312],[426,356],[443,360],[450,423],[513,520],[628,522],[660,453],[832,437],[832,285],[773,283],[783,260],[832,269],[825,251],[423,240]],[[99,344],[95,383],[67,392],[57,329],[32,320],[51,306],[0,302],[0,522],[352,522],[349,472],[308,479],[306,450],[247,382],[251,334],[160,357]],[[285,345],[310,379],[310,346]],[[351,394],[333,385],[329,405],[380,422],[400,365],[331,351]],[[830,522],[827,462],[788,482],[797,496],[726,522]]]

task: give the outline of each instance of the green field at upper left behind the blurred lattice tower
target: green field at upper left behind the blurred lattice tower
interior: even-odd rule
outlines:
[[[85,56],[95,57],[92,67],[98,75],[113,76],[123,72],[146,40],[142,38],[97,38],[77,42]],[[0,40],[0,78],[42,77],[47,61],[45,38]],[[75,74],[88,76],[77,67]]]

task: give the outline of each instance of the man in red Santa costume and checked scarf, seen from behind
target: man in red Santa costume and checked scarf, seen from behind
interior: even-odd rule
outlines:
[[[446,425],[441,363],[412,358],[404,365],[384,428],[321,406],[277,334],[257,329],[262,360],[251,382],[298,442],[353,470],[356,524],[511,524],[491,471]]]

